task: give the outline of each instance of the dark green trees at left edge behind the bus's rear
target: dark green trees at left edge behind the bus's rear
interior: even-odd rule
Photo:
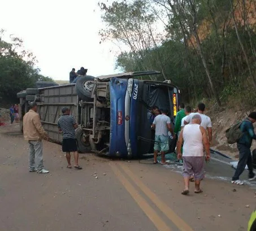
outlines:
[[[0,104],[7,106],[18,102],[16,93],[33,88],[36,81],[53,81],[40,75],[40,69],[34,68],[36,62],[32,53],[22,50],[23,41],[11,37],[11,42],[2,40],[0,31]]]

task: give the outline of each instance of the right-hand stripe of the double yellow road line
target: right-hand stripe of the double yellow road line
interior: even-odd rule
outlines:
[[[119,163],[119,165],[123,168],[124,172],[127,173],[129,177],[134,181],[134,183],[147,195],[147,197],[161,210],[167,217],[170,219],[173,224],[177,226],[181,231],[193,231],[193,229],[185,223],[183,219],[181,219],[170,207],[166,205],[163,201],[159,199],[159,197],[153,193],[139,178],[132,173],[131,170],[123,163]]]

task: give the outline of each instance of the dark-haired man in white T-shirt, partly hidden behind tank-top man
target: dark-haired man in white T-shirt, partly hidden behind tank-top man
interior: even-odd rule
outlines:
[[[211,141],[212,141],[212,126],[211,126],[211,119],[209,116],[203,114],[203,112],[205,111],[205,104],[204,103],[199,103],[197,106],[197,111],[196,113],[191,113],[188,117],[186,117],[186,119],[184,120],[184,124],[192,124],[192,117],[194,115],[199,115],[201,116],[201,126],[203,128],[205,128],[207,130],[208,133],[208,138],[209,138],[209,142],[211,145]]]

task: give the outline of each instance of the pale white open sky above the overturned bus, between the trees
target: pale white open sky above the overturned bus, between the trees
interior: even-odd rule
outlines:
[[[41,74],[54,80],[69,80],[71,69],[80,67],[92,76],[118,73],[117,48],[111,42],[99,44],[104,24],[98,1],[2,1],[0,29],[20,37],[36,56]]]

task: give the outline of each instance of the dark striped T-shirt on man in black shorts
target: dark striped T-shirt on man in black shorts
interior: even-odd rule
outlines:
[[[63,139],[76,138],[74,125],[76,124],[76,120],[71,115],[62,115],[58,120],[58,127],[62,130]]]

